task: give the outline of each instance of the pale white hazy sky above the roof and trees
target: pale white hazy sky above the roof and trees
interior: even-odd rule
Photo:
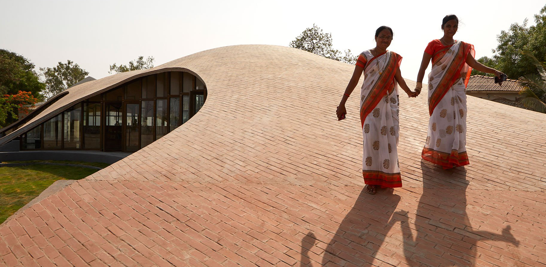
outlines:
[[[517,3],[517,4],[516,4]],[[313,23],[334,48],[357,55],[373,48],[381,25],[394,30],[389,50],[402,55],[402,76],[415,80],[424,48],[441,38],[442,18],[456,14],[455,39],[473,44],[476,58],[492,55],[496,35],[546,4],[518,1],[14,1],[0,0],[0,48],[37,67],[67,59],[94,78],[109,65],[139,55],[155,65],[228,45],[288,46]],[[318,82],[318,81],[317,81]]]

